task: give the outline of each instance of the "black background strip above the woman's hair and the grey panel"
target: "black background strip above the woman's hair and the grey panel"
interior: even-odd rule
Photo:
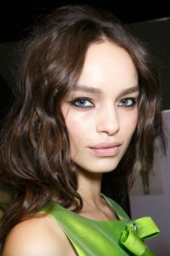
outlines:
[[[0,43],[19,40],[27,35],[27,28],[37,17],[65,4],[89,4],[109,9],[123,23],[169,17],[168,1],[8,1],[0,3]]]

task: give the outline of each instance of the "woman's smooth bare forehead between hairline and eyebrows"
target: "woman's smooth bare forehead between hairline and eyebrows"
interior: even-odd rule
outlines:
[[[108,41],[94,43],[86,52],[78,84],[133,86],[138,84],[138,72],[125,49]]]

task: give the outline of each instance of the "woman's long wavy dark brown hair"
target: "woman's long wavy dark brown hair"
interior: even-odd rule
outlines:
[[[125,179],[133,184],[143,158],[151,170],[154,139],[159,136],[164,144],[160,81],[153,59],[109,12],[86,6],[58,8],[22,45],[26,47],[15,101],[1,131],[0,179],[12,191],[12,204],[1,221],[1,241],[49,200],[65,208],[74,203],[76,211],[82,208],[61,101],[76,85],[89,45],[104,40],[128,51],[140,87],[138,127],[122,161],[109,174],[112,186],[121,189],[118,182]]]

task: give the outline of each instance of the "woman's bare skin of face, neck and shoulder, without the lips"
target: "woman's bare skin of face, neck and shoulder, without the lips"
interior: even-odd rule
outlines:
[[[128,53],[107,41],[91,45],[77,88],[62,105],[71,156],[79,166],[78,190],[84,200],[79,214],[86,218],[117,220],[100,196],[102,174],[114,170],[128,148],[138,122],[137,101],[138,74]],[[119,143],[116,153],[96,155],[91,147],[100,142]],[[76,252],[58,223],[44,216],[19,223],[6,240],[3,256],[27,255],[73,256]]]

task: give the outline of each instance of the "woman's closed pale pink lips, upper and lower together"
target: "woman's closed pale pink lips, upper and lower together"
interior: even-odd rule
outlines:
[[[107,157],[107,156],[115,156],[120,151],[120,145],[122,145],[119,142],[101,142],[96,145],[92,145],[89,147],[94,155],[101,156],[101,157]]]

